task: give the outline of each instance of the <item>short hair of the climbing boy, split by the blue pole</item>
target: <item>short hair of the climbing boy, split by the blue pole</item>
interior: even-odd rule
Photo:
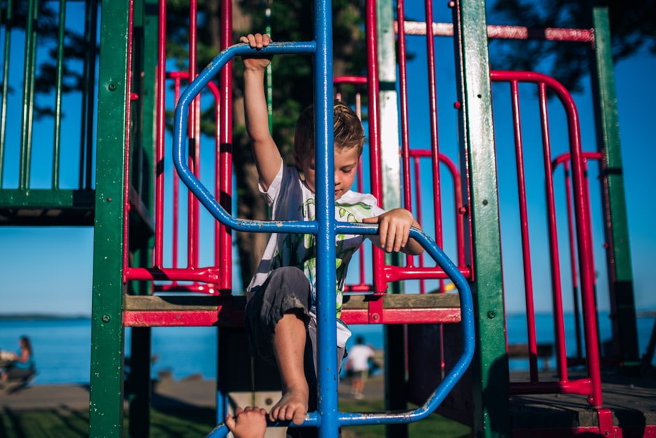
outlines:
[[[364,128],[362,123],[348,105],[334,101],[334,142],[335,149],[352,149],[357,147],[357,155],[362,153]],[[294,154],[299,160],[314,157],[314,106],[310,105],[299,116],[294,134]]]

